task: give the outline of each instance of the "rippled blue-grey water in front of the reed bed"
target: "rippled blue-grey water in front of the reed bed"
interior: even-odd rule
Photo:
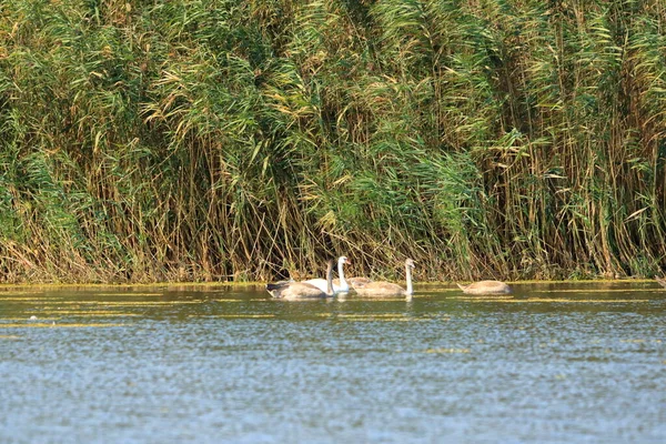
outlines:
[[[666,290],[514,289],[2,289],[0,442],[666,442]]]

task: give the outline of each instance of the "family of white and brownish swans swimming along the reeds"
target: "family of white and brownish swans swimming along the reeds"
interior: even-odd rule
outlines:
[[[362,297],[412,297],[414,286],[412,284],[412,269],[414,261],[405,260],[405,281],[406,287],[402,287],[393,282],[372,281],[367,278],[345,278],[344,265],[351,263],[346,256],[337,259],[339,279],[333,280],[334,261],[327,262],[326,279],[310,279],[302,282],[281,281],[266,284],[266,291],[276,299],[297,300],[297,299],[322,299],[332,297],[337,293],[349,293],[354,291]],[[508,294],[511,286],[500,281],[478,281],[470,285],[458,284],[466,294]]]

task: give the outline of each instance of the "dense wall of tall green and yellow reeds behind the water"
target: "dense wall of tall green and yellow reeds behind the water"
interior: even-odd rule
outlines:
[[[660,273],[662,0],[10,0],[0,280]]]

